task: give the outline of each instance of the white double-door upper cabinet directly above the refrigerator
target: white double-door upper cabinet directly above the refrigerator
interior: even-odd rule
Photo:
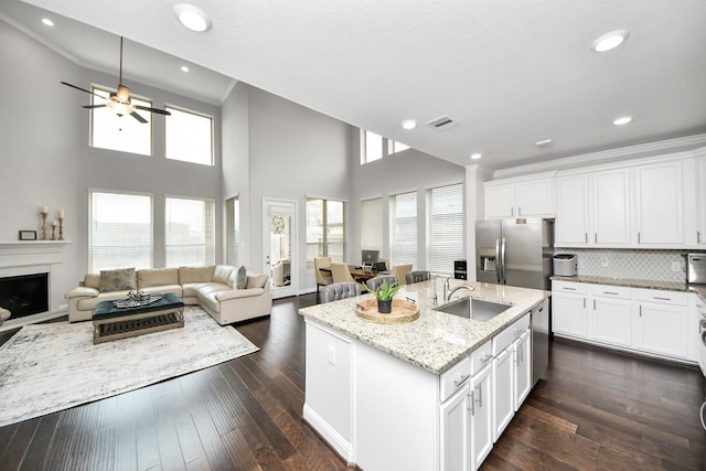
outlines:
[[[485,183],[485,218],[554,217],[554,176]]]

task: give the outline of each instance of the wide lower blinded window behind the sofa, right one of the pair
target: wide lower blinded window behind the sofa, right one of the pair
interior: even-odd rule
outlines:
[[[213,265],[213,201],[168,197],[164,201],[164,265]]]

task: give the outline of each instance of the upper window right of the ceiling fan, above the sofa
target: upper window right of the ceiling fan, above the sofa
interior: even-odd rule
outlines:
[[[213,165],[213,118],[165,107],[165,157]]]

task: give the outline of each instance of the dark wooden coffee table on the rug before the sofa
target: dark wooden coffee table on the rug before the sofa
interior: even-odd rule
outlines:
[[[100,301],[93,314],[93,343],[183,327],[184,301],[173,292],[135,308],[116,308],[113,301]]]

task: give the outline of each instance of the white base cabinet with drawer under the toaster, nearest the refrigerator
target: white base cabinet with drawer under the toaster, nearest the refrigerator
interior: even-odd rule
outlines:
[[[588,339],[587,285],[566,281],[552,282],[553,332]]]

